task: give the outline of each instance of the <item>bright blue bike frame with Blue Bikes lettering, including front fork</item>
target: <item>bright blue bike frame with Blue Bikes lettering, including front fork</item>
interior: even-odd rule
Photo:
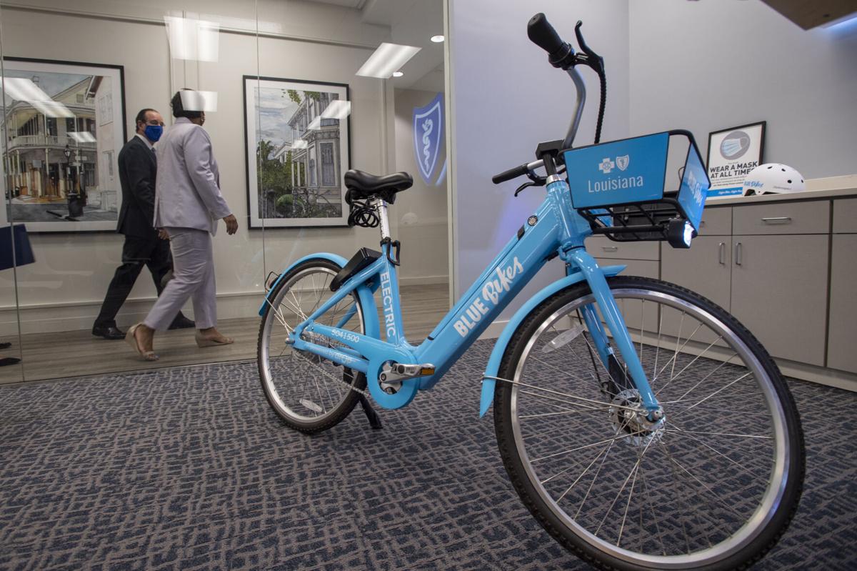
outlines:
[[[649,411],[656,411],[658,404],[655,395],[633,349],[620,310],[609,291],[605,274],[584,249],[584,238],[591,234],[590,225],[572,207],[568,185],[563,179],[556,175],[548,177],[547,190],[548,195],[536,213],[506,243],[500,254],[420,345],[412,346],[405,340],[399,281],[396,266],[390,259],[389,243],[382,243],[383,255],[380,258],[347,279],[325,304],[298,324],[290,334],[289,343],[298,351],[313,353],[364,373],[369,379],[369,392],[375,400],[385,408],[399,408],[410,403],[418,390],[433,388],[548,259],[558,255],[566,262],[567,272],[580,273],[594,294],[601,319],[596,316],[591,305],[585,306],[583,313],[602,363],[607,367],[608,358],[613,355],[608,334],[601,325],[603,321],[626,363],[644,406]],[[378,202],[381,203],[386,222],[386,204],[380,199]],[[386,224],[382,223],[382,233],[385,227]],[[386,340],[381,340],[380,334],[375,337],[342,328],[356,314],[356,304],[339,321],[339,327],[315,322],[317,317],[361,288],[367,288],[370,292],[381,289],[383,321],[380,329],[384,331]],[[376,319],[374,310],[374,307],[364,307],[363,318]],[[379,331],[379,328],[370,327],[368,330]],[[314,334],[312,337],[327,337],[345,347],[318,345],[302,339],[304,332]],[[432,364],[434,374],[405,379],[398,392],[387,394],[381,389],[378,378],[384,365],[391,362]]]

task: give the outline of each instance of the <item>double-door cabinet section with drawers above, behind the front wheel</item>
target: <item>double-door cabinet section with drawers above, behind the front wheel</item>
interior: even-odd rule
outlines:
[[[824,366],[830,201],[706,213],[716,221],[691,249],[661,244],[662,279],[728,310],[774,357]],[[728,213],[731,226],[723,224]]]

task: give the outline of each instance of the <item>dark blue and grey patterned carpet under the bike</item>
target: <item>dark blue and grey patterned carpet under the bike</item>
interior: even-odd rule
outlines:
[[[477,417],[491,345],[370,430],[279,424],[255,364],[0,387],[0,568],[587,568],[542,531]],[[791,382],[806,490],[758,569],[857,568],[857,394]]]

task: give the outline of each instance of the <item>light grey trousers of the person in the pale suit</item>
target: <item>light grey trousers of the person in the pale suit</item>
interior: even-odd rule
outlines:
[[[164,331],[190,298],[194,304],[196,328],[213,328],[217,324],[217,298],[211,234],[194,228],[167,228],[166,231],[170,233],[172,279],[143,323]]]

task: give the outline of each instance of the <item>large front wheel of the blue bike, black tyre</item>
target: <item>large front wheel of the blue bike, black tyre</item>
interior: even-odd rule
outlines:
[[[655,279],[608,283],[665,417],[644,418],[618,351],[602,364],[598,327],[584,319],[594,298],[573,285],[530,313],[500,364],[494,427],[506,472],[536,520],[596,567],[749,567],[800,498],[794,400],[764,348],[716,304]]]

